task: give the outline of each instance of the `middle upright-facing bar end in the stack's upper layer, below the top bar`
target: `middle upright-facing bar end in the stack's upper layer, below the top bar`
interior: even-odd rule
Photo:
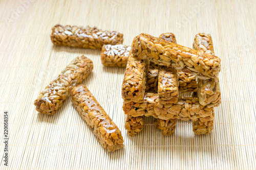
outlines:
[[[179,99],[178,73],[173,67],[159,67],[158,95],[160,100],[176,103]]]

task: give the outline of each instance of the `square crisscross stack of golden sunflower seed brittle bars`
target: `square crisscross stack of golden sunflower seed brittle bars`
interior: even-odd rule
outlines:
[[[197,34],[193,46],[176,44],[173,34],[134,38],[122,84],[130,135],[143,129],[144,116],[154,116],[163,135],[175,131],[176,119],[191,120],[195,134],[211,132],[214,107],[221,103],[221,60],[214,56],[209,34]],[[179,95],[189,91],[194,95]]]

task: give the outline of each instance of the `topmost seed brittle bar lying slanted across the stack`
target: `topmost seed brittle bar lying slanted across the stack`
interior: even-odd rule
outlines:
[[[186,67],[191,70],[191,75],[200,79],[215,78],[221,69],[221,60],[217,56],[148,34],[140,34],[134,38],[130,56],[140,60],[150,59],[155,64],[172,66],[177,70]]]

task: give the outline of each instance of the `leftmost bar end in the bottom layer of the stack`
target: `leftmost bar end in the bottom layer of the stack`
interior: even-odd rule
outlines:
[[[125,114],[124,128],[131,136],[138,134],[144,129],[144,116],[133,117],[131,115]]]

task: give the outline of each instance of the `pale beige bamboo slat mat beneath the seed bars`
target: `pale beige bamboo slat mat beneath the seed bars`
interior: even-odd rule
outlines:
[[[255,169],[256,168],[256,3],[255,1],[0,1],[0,156],[4,156],[4,111],[9,112],[9,165],[0,169]],[[210,33],[222,60],[222,104],[214,131],[196,136],[178,121],[163,137],[146,119],[130,137],[124,129],[121,83],[124,68],[104,67],[100,51],[54,46],[56,24],[96,26],[135,36],[172,32],[191,47],[197,33]],[[102,149],[71,105],[53,116],[33,105],[40,90],[75,57],[94,62],[83,84],[117,124],[124,147]]]

